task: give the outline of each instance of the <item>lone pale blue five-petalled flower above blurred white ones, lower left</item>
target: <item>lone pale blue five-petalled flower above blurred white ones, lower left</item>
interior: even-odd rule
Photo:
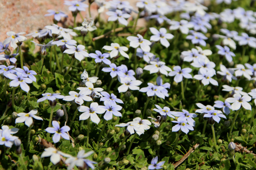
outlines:
[[[53,135],[53,142],[57,143],[62,138],[69,140],[69,135],[67,134],[68,131],[70,131],[69,126],[62,126],[60,128],[59,123],[57,121],[52,122],[53,128],[46,128],[45,131],[48,133],[54,133]]]

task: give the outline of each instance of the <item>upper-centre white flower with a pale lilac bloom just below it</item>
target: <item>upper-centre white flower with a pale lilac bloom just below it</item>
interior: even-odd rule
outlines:
[[[138,46],[140,46],[143,51],[150,51],[151,42],[149,40],[143,39],[143,37],[139,34],[137,34],[137,37],[129,36],[127,37],[127,40],[130,41],[130,46],[133,48],[137,48]]]

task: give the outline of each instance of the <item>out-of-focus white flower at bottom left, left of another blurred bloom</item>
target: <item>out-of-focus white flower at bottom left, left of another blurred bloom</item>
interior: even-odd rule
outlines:
[[[65,154],[64,152],[61,152],[54,147],[49,147],[49,148],[45,148],[45,151],[43,151],[41,158],[51,156],[50,161],[54,165],[56,165],[57,163],[59,163],[61,161],[61,155],[65,156],[67,158],[71,157],[71,155]]]

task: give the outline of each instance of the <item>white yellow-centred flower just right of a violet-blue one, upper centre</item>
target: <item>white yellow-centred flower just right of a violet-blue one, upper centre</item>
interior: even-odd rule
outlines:
[[[121,56],[124,56],[129,59],[129,55],[125,53],[125,51],[128,51],[128,48],[125,46],[120,47],[118,43],[111,43],[111,46],[104,45],[102,49],[111,51],[110,52],[110,58],[117,57],[120,53]]]

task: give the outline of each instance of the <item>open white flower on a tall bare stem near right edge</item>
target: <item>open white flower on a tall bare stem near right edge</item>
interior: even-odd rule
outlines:
[[[248,101],[251,101],[251,97],[248,95],[241,96],[240,94],[234,94],[234,97],[229,97],[226,99],[226,101],[233,103],[231,105],[233,111],[239,110],[241,105],[246,110],[251,110],[251,105],[248,103]]]

